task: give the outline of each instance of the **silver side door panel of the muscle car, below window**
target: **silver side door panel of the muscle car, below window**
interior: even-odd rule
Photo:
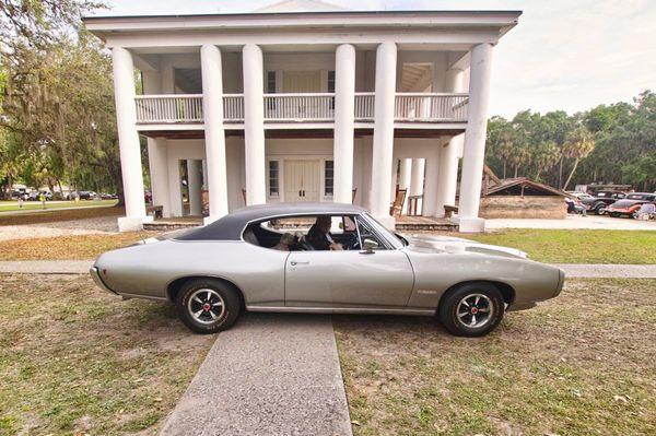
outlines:
[[[285,264],[285,306],[401,308],[414,273],[401,249],[292,251]]]

